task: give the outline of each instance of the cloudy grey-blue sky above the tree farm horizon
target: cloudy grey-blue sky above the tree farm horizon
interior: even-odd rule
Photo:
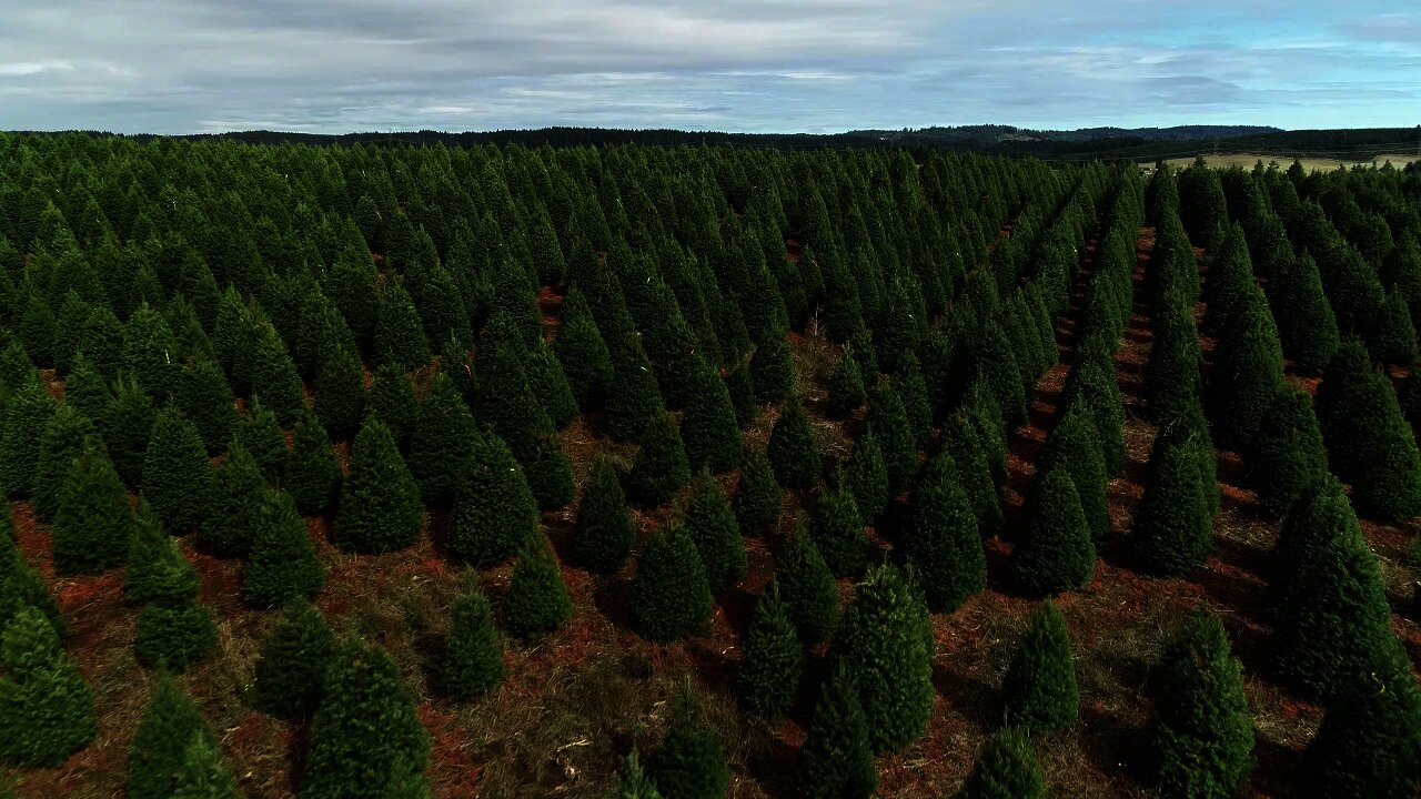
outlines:
[[[0,128],[1421,124],[1374,0],[3,0]]]

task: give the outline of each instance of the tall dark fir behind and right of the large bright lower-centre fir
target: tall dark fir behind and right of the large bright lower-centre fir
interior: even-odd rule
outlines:
[[[976,513],[958,483],[951,456],[928,462],[912,495],[912,526],[901,547],[935,613],[951,613],[986,589],[986,553]]]

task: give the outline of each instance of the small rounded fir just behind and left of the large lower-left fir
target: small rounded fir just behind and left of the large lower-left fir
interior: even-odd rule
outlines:
[[[308,715],[321,701],[325,667],[334,654],[335,636],[321,611],[306,600],[288,603],[261,645],[257,704],[281,718]]]

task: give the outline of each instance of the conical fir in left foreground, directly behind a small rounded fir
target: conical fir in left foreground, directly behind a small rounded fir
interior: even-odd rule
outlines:
[[[315,596],[325,584],[325,567],[291,495],[267,492],[266,500],[246,513],[257,522],[252,554],[242,570],[242,599],[270,608]]]

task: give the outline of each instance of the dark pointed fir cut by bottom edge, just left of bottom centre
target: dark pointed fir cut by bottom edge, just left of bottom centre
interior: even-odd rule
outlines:
[[[662,796],[720,799],[730,789],[725,749],[703,717],[705,711],[691,694],[688,680],[648,769]]]

